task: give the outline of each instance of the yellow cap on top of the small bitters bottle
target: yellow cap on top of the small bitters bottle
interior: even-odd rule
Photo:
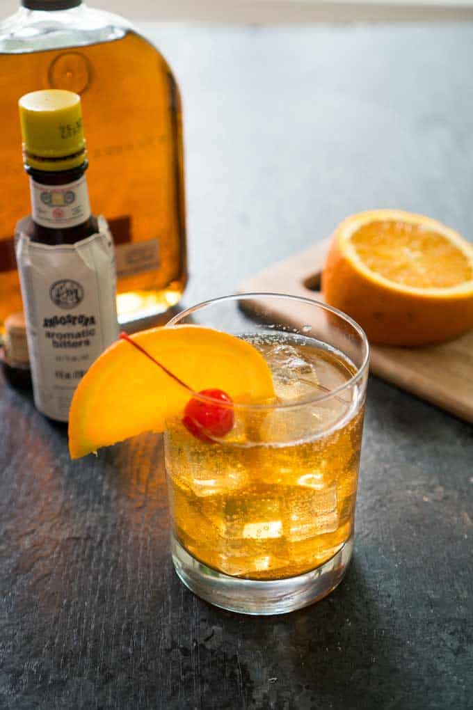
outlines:
[[[85,160],[80,97],[62,89],[25,94],[18,102],[25,162],[38,170],[69,170]]]

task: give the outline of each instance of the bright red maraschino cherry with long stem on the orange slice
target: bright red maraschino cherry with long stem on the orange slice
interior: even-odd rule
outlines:
[[[155,365],[160,367],[169,377],[172,377],[173,380],[185,387],[189,392],[193,392],[189,385],[174,375],[167,367],[155,360],[148,351],[131,339],[127,333],[121,333],[120,338],[135,346],[135,348],[143,353],[143,355],[147,356]],[[199,399],[199,397],[192,397],[184,409],[182,423],[196,439],[213,444],[214,441],[212,437],[223,437],[233,429],[233,425],[235,424],[235,412],[233,407],[229,406],[233,404],[233,400],[230,395],[219,389],[202,390],[199,392],[199,395],[202,395],[202,397],[206,399],[211,399],[212,401],[208,402]],[[219,402],[223,403],[223,406],[220,405]]]

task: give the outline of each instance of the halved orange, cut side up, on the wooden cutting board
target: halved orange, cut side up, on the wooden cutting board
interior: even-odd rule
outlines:
[[[322,291],[374,343],[443,342],[473,328],[473,245],[421,214],[361,212],[333,234]]]

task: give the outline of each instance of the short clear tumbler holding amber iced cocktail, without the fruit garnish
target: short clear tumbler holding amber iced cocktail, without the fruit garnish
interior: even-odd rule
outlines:
[[[224,297],[169,324],[191,322],[251,342],[277,398],[234,405],[235,427],[213,443],[169,422],[174,567],[189,589],[232,611],[306,606],[337,586],[352,555],[365,334],[340,311],[274,294]]]

